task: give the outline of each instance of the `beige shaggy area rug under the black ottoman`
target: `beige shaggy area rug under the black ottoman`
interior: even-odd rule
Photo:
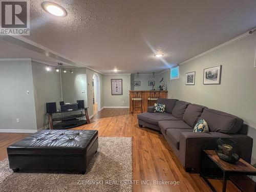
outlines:
[[[99,137],[98,152],[84,175],[19,170],[0,161],[0,191],[132,191],[132,138]]]

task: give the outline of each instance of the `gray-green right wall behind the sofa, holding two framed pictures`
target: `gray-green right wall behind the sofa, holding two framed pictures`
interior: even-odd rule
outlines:
[[[250,126],[256,163],[256,34],[237,40],[180,66],[180,78],[168,85],[169,98],[198,103],[231,113]],[[222,65],[221,84],[203,85],[203,70]],[[185,86],[185,73],[196,71],[195,86]]]

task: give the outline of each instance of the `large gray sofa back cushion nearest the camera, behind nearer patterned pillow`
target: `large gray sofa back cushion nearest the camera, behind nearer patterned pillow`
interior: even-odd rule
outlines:
[[[237,133],[244,122],[239,117],[212,109],[204,109],[200,119],[208,123],[210,132],[227,134]]]

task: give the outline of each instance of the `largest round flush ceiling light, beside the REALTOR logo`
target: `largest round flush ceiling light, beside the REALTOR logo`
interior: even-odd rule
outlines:
[[[52,2],[42,2],[41,6],[46,12],[55,16],[65,17],[68,14],[63,7]]]

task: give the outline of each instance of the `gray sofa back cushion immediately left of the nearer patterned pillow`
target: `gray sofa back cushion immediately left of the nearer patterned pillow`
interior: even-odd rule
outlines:
[[[197,105],[197,104],[189,104],[187,109],[182,117],[182,119],[189,124],[190,126],[194,127],[197,123],[198,118],[200,117],[201,113],[205,106]]]

